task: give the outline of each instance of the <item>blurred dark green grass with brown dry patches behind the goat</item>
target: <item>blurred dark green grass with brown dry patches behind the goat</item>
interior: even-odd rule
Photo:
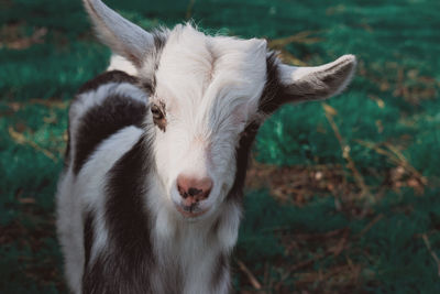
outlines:
[[[144,28],[266,37],[286,63],[358,56],[349,90],[288,106],[254,146],[239,293],[440,293],[440,2],[129,0]],[[79,0],[0,0],[0,293],[66,293],[54,190],[76,89],[108,63]]]

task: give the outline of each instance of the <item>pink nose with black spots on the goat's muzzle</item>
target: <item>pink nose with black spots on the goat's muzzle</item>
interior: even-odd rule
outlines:
[[[177,176],[177,189],[189,205],[208,198],[211,188],[212,179],[210,177]]]

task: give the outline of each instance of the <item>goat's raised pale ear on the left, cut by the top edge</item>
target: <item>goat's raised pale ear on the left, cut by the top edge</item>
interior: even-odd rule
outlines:
[[[84,0],[99,39],[116,54],[141,67],[145,53],[154,47],[154,37],[125,20],[100,0]]]

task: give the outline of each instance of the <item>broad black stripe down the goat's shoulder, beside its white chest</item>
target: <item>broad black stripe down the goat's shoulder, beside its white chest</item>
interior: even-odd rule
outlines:
[[[147,140],[141,138],[109,171],[106,221],[109,248],[87,269],[82,293],[153,293],[151,220],[143,195],[152,164]]]

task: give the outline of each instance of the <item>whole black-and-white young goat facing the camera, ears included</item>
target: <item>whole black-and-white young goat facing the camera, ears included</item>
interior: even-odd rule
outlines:
[[[57,228],[74,293],[228,293],[248,156],[287,102],[328,98],[355,58],[283,64],[266,41],[146,32],[84,1],[116,57],[69,109]]]

